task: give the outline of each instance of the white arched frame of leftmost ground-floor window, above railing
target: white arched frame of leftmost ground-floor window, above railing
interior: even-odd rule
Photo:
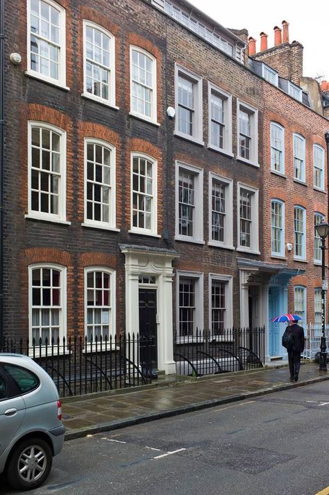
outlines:
[[[60,341],[60,353],[64,353],[63,338],[67,336],[67,268],[66,266],[56,265],[54,263],[33,263],[28,266],[28,339],[32,343],[32,313],[33,313],[33,295],[32,295],[32,272],[37,268],[53,268],[60,272],[60,318],[59,318],[59,332],[58,337]],[[40,307],[42,307],[40,305]],[[45,306],[47,308],[48,306]],[[50,306],[49,306],[50,307]],[[56,341],[57,345],[57,341]],[[42,343],[42,349],[51,346],[51,340],[48,342],[48,346]],[[37,351],[39,342],[35,341],[35,350]],[[43,352],[42,352],[43,354]]]

